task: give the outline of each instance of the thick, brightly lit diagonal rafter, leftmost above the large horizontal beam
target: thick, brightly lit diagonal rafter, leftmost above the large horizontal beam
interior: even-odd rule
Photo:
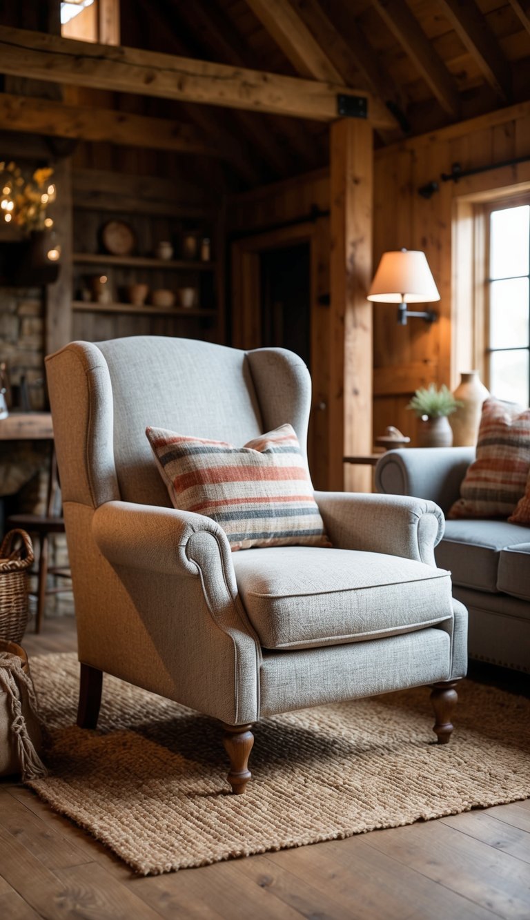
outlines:
[[[247,5],[300,75],[343,82],[335,63],[289,0],[247,0]]]

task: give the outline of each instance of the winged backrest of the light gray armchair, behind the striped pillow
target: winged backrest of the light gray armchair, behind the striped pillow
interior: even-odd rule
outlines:
[[[292,351],[135,336],[72,342],[46,372],[64,501],[168,505],[147,425],[242,446],[290,422],[306,449],[311,384]]]

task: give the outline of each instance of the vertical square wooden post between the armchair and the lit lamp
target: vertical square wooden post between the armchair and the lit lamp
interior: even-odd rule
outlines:
[[[342,457],[372,451],[372,125],[335,121],[330,144],[329,488],[370,491]]]

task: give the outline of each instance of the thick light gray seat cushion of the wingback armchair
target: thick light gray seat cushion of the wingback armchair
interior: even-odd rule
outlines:
[[[233,559],[266,649],[392,636],[453,616],[448,572],[412,559],[305,546],[249,549]]]

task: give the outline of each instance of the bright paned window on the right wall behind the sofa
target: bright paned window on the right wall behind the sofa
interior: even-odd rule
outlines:
[[[488,207],[486,371],[491,393],[530,403],[530,202]]]

